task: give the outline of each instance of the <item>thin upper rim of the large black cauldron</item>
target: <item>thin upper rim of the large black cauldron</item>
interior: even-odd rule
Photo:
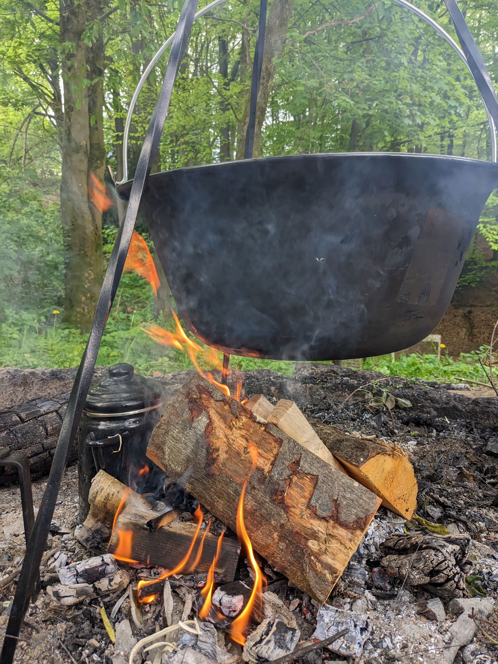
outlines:
[[[419,154],[419,153],[413,153],[413,152],[315,152],[311,154],[304,154],[304,155],[276,155],[274,157],[256,157],[255,159],[239,159],[238,161],[217,161],[214,163],[210,164],[201,164],[198,166],[185,166],[183,168],[177,168],[177,169],[171,169],[171,171],[161,171],[160,173],[153,173],[152,175],[149,175],[149,181],[154,181],[156,179],[159,179],[165,175],[170,175],[171,173],[183,173],[186,171],[194,171],[196,169],[207,169],[207,168],[222,168],[222,167],[232,167],[232,168],[237,168],[241,167],[242,164],[248,164],[248,163],[263,163],[263,162],[268,162],[268,161],[282,161],[284,159],[290,160],[290,159],[323,159],[324,157],[329,157],[329,158],[342,158],[346,157],[349,159],[364,159],[365,157],[373,157],[374,159],[426,159],[428,161],[432,161],[432,159],[438,159],[440,161],[457,161],[457,162],[463,162],[463,163],[475,163],[475,164],[482,164],[485,166],[488,166],[492,169],[497,169],[498,163],[495,163],[493,161],[485,161],[484,159],[471,159],[470,157],[457,157],[455,155],[428,155],[428,154]],[[118,185],[116,187],[116,191],[118,192],[118,195],[120,198],[125,199],[127,201],[128,199],[128,194],[129,194],[129,188],[131,187],[131,184],[133,183],[133,179],[127,180],[124,182],[122,185]]]

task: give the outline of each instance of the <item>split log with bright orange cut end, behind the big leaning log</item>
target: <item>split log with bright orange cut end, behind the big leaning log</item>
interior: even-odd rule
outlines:
[[[404,519],[412,518],[418,484],[406,452],[380,440],[349,436],[335,426],[313,420],[317,435],[351,477],[382,499],[382,505]]]

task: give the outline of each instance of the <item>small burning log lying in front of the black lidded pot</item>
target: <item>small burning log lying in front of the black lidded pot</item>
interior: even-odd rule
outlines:
[[[76,536],[77,539],[88,545],[92,538],[95,539],[96,533],[101,541],[105,541],[104,533],[107,540],[112,533],[108,552],[118,559],[137,560],[171,570],[187,554],[195,536],[195,523],[179,521],[179,511],[166,511],[164,505],[164,512],[158,514],[151,509],[143,496],[131,491],[103,470],[94,477],[88,500],[90,513]],[[120,511],[112,531],[118,509]],[[205,531],[201,530],[197,535],[197,542],[182,570],[184,574],[207,572],[214,558],[218,537],[208,531],[203,538],[204,533]],[[202,539],[203,548],[197,560]],[[239,554],[238,540],[226,534],[214,568],[222,580],[228,582],[234,579]]]

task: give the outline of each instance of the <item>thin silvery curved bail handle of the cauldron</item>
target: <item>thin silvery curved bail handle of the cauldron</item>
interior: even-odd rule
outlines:
[[[201,11],[198,11],[197,14],[195,15],[195,21],[197,19],[200,19],[201,16],[204,16],[205,14],[208,13],[211,9],[214,9],[214,7],[218,7],[218,5],[221,5],[224,3],[225,0],[214,0],[214,2],[210,3],[204,9],[201,9]],[[463,53],[463,50],[458,46],[456,41],[448,35],[446,30],[444,30],[439,23],[436,23],[434,19],[431,19],[430,16],[428,16],[426,13],[424,13],[421,9],[418,9],[418,7],[414,7],[414,5],[410,4],[406,0],[393,0],[397,5],[400,5],[401,7],[404,7],[405,9],[409,9],[412,11],[414,14],[416,14],[420,19],[428,23],[436,32],[441,35],[443,39],[445,39],[454,50],[456,50],[457,54],[460,56],[463,64],[467,67],[469,70],[475,84],[477,85],[477,89],[479,90],[479,94],[481,94],[481,98],[483,100],[484,108],[486,111],[487,115],[487,122],[489,123],[489,133],[491,134],[491,161],[497,161],[497,145],[496,145],[496,130],[495,130],[495,123],[493,122],[493,118],[491,117],[491,114],[487,108],[487,104],[484,101],[483,94],[481,93],[481,86],[477,83],[477,80],[472,72],[471,66],[469,65],[469,62],[467,62],[467,58],[465,57],[465,54]],[[450,3],[448,3],[450,4]],[[453,3],[452,3],[453,4]],[[454,3],[456,5],[456,3]],[[450,9],[450,7],[448,7]],[[453,13],[452,9],[450,9],[450,14],[452,15],[453,18]],[[465,21],[464,21],[465,23]],[[460,34],[460,32],[458,33]],[[145,71],[143,72],[137,88],[135,89],[135,92],[133,93],[133,97],[131,98],[131,102],[129,103],[129,108],[128,112],[126,115],[126,121],[125,121],[125,126],[124,126],[124,131],[123,131],[123,179],[120,180],[119,182],[116,181],[116,185],[122,185],[125,183],[128,179],[128,135],[129,135],[129,126],[131,124],[131,116],[133,116],[133,110],[135,109],[135,104],[137,103],[138,96],[140,94],[140,91],[143,87],[143,84],[147,80],[150,72],[153,70],[155,67],[155,64],[157,60],[161,57],[161,55],[165,52],[165,50],[168,48],[168,46],[173,42],[173,38],[175,37],[175,33],[169,37],[164,44],[159,48],[155,56],[152,58],[152,60],[149,62],[147,68],[145,68]],[[475,42],[474,42],[475,46]],[[477,48],[477,47],[476,47]],[[473,63],[472,63],[473,64]],[[485,70],[485,68],[484,68]],[[487,72],[486,72],[487,73]]]

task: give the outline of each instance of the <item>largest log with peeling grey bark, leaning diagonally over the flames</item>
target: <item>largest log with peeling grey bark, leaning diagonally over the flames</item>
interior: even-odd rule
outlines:
[[[232,529],[248,480],[244,520],[254,548],[322,603],[381,502],[199,376],[167,406],[147,456],[172,479],[184,475],[185,489]]]

